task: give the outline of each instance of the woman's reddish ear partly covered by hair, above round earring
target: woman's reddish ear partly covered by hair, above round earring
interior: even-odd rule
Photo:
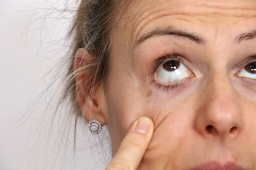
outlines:
[[[76,73],[76,96],[79,108],[87,122],[92,119],[98,119],[102,125],[106,125],[105,115],[103,109],[105,108],[104,91],[102,88],[102,82],[96,84],[92,89],[89,88],[90,82],[93,79],[90,75],[93,73],[90,69],[83,69],[87,64],[90,64],[93,57],[91,54],[80,48],[76,52],[76,57],[74,61],[74,72]],[[88,82],[90,81],[90,82]]]

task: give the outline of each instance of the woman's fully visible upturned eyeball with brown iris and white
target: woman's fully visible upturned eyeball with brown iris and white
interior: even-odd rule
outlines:
[[[166,70],[166,67],[170,68],[169,71]],[[182,63],[175,60],[170,60],[160,66],[157,71],[156,77],[164,83],[177,82],[181,79],[191,77],[191,71],[189,71],[189,69],[186,68],[186,66]]]

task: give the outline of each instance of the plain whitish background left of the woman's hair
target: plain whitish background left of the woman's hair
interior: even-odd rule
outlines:
[[[45,112],[57,84],[47,87],[64,75],[52,79],[73,16],[61,10],[76,4],[65,1],[0,0],[0,170],[102,170],[110,159],[106,131],[93,136],[81,121],[74,154],[73,120],[59,113],[52,124]]]

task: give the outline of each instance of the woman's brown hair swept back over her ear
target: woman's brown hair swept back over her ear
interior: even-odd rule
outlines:
[[[102,83],[103,90],[107,88],[107,76],[110,69],[111,36],[118,21],[116,16],[129,5],[127,0],[80,0],[73,20],[73,25],[67,38],[72,39],[68,71],[63,83],[63,96],[58,101],[58,107],[67,100],[71,104],[70,114],[75,114],[74,147],[76,146],[76,126],[82,117],[77,100],[76,77],[86,73],[84,77],[83,99],[90,99],[94,87]],[[118,9],[118,10],[117,10]],[[90,53],[89,62],[74,71],[74,60],[79,48]],[[86,57],[86,56],[85,56]]]

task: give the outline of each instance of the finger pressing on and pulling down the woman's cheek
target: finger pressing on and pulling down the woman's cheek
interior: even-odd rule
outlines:
[[[148,117],[137,119],[123,139],[107,170],[137,170],[154,131]]]

